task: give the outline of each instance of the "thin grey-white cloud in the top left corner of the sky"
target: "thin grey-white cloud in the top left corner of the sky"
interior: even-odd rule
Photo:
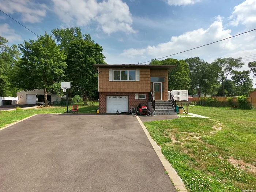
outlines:
[[[21,14],[23,22],[37,23],[46,16],[46,5],[34,1],[1,1],[1,10],[6,14]]]

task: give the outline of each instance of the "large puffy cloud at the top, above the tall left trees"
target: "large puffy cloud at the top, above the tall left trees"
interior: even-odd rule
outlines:
[[[66,25],[87,26],[96,22],[98,29],[107,34],[117,31],[136,33],[132,29],[129,7],[116,1],[53,1],[54,12]]]

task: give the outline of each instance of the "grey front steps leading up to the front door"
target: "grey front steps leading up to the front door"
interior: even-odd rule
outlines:
[[[153,109],[152,102],[151,108]],[[177,115],[174,112],[172,103],[170,101],[155,101],[155,110],[153,110],[154,115]]]

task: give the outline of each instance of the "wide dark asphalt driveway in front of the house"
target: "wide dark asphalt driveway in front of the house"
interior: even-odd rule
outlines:
[[[176,191],[136,117],[38,114],[0,133],[1,191]]]

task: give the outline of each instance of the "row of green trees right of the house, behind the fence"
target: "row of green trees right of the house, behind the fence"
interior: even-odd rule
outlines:
[[[217,58],[212,63],[205,62],[199,57],[185,60],[152,59],[151,65],[175,65],[169,72],[169,89],[189,90],[189,95],[199,97],[249,95],[253,91],[250,72],[256,77],[256,61],[250,62],[250,71],[237,71],[244,63],[241,58]],[[231,79],[228,79],[231,76]]]

